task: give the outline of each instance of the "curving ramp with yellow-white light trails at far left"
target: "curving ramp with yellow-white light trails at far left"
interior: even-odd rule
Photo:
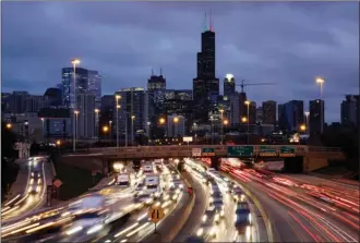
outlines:
[[[24,161],[27,180],[22,193],[16,194],[2,205],[1,221],[7,223],[32,214],[46,203],[46,186],[51,183],[52,174],[45,157],[32,157]]]

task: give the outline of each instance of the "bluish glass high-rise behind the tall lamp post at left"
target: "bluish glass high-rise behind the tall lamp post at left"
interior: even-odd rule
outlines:
[[[74,69],[62,69],[62,102],[68,108],[74,108]],[[75,94],[88,93],[88,71],[83,68],[75,69]]]

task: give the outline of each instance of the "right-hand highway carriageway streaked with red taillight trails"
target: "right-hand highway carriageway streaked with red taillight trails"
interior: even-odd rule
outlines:
[[[359,202],[355,201],[359,191],[347,190],[347,186],[336,190],[329,181],[324,184],[324,179],[308,175],[223,169],[262,205],[268,215],[268,227],[273,229],[275,241],[359,241]],[[320,181],[316,185],[312,184]]]

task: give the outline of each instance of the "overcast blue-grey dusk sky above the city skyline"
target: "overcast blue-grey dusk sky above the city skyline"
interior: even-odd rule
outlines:
[[[339,121],[345,94],[359,94],[357,2],[2,2],[2,92],[43,94],[77,57],[103,75],[103,94],[146,87],[163,68],[168,88],[192,88],[204,13],[212,9],[216,75],[249,83],[259,105],[320,96]],[[220,85],[223,90],[223,83]]]

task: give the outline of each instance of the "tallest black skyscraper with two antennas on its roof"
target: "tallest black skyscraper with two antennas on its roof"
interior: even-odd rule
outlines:
[[[215,74],[215,32],[212,19],[209,27],[204,27],[201,44],[202,51],[197,52],[197,75],[193,80],[194,114],[202,118],[202,121],[207,121],[211,104],[216,102],[219,95],[219,80]]]

